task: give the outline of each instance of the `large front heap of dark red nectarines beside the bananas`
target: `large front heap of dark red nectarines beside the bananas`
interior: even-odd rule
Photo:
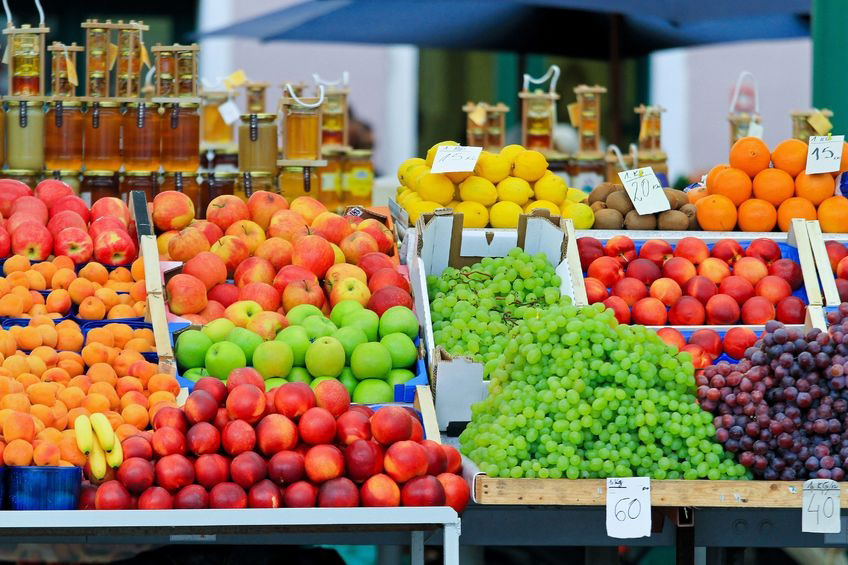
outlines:
[[[200,379],[183,408],[122,442],[124,461],[80,508],[443,506],[469,489],[459,452],[423,439],[411,409],[351,405],[338,381],[265,392],[252,369]],[[148,435],[149,434],[149,435]]]

